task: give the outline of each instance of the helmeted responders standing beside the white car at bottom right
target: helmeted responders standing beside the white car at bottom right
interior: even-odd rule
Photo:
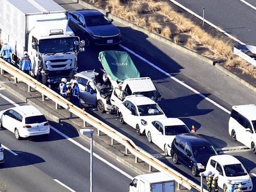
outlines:
[[[215,176],[215,174],[210,174],[208,177],[206,177],[207,180],[207,190],[210,192],[218,192],[219,186],[218,186],[218,176]],[[227,189],[224,190],[224,192],[242,192],[242,185],[239,184],[238,188],[235,188],[236,182],[231,181],[228,183]]]

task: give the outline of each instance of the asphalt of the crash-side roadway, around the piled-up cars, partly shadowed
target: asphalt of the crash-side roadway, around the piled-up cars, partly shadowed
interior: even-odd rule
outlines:
[[[77,4],[69,4],[69,1],[58,0],[56,2],[66,2],[61,6],[67,10],[84,8]],[[144,60],[141,60],[138,55],[135,56],[130,53],[141,76],[151,77],[157,89],[162,92],[162,99],[159,101],[159,105],[167,117],[179,117],[188,127],[195,125],[197,134],[208,139],[216,148],[230,148],[242,145],[239,142],[234,142],[228,135],[228,112],[231,110],[231,106],[235,104],[256,103],[256,96],[253,91],[245,88],[237,81],[221,75],[219,71],[214,71],[212,66],[194,57],[185,55],[157,40],[148,38],[140,32],[135,32],[129,27],[119,23],[114,24],[119,27],[123,35],[122,45],[143,57]],[[86,52],[80,53],[78,57],[79,71],[99,70],[101,65],[98,61],[98,53],[102,50],[125,51],[120,46],[88,48]],[[154,67],[147,61],[154,64]],[[194,68],[191,68],[191,66]],[[206,99],[212,99],[217,103],[209,102],[198,93],[181,86],[179,82],[170,79],[165,73],[174,75],[181,82],[186,82],[188,86],[203,93]],[[223,106],[226,111],[220,108],[218,104]],[[147,152],[158,156],[181,174],[199,183],[199,178],[193,177],[190,170],[182,165],[174,165],[170,158],[161,157],[163,152],[156,145],[148,143],[145,136],[138,136],[130,126],[121,125],[116,116],[99,114],[98,112],[92,113],[101,120],[108,122],[120,133],[133,139],[138,146]],[[253,176],[256,173],[255,155],[248,152],[248,150],[232,152],[228,154],[236,156],[242,161],[252,176],[253,184],[256,185],[256,180]]]

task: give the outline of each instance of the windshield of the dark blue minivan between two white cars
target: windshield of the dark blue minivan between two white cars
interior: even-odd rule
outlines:
[[[195,158],[210,157],[218,155],[211,144],[206,145],[192,145],[192,151]]]

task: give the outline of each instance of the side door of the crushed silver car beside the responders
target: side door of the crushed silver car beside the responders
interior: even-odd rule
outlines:
[[[89,86],[89,80],[86,78],[78,77],[77,81],[81,94],[80,98],[83,100],[83,102],[96,106],[97,94],[96,91]]]

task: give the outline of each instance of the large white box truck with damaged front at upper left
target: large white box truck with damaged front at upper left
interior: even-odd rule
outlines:
[[[85,42],[68,26],[67,11],[53,0],[0,0],[0,39],[14,49],[12,63],[28,51],[32,75],[41,66],[51,83],[70,79]]]

